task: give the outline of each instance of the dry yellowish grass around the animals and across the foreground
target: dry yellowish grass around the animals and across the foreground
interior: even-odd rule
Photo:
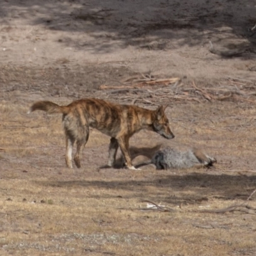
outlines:
[[[211,170],[99,169],[109,138],[92,131],[83,168],[65,168],[60,116],[1,111],[1,255],[253,255],[256,216],[198,212],[241,204],[256,188],[255,109],[173,105],[175,140],[142,131],[132,145],[204,147]],[[207,116],[207,118],[205,118]],[[174,212],[145,211],[143,200]],[[250,205],[256,207],[255,196]],[[247,253],[247,254],[246,254]]]

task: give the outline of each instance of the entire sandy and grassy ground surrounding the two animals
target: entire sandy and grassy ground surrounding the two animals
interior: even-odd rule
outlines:
[[[246,201],[256,189],[255,6],[1,1],[1,255],[255,255],[255,209],[200,212],[256,207],[255,194]],[[68,170],[61,116],[26,112],[81,97],[168,103],[175,139],[141,131],[131,145],[202,147],[218,163],[100,168],[109,138],[92,130],[83,168]],[[145,200],[173,211],[145,210]]]

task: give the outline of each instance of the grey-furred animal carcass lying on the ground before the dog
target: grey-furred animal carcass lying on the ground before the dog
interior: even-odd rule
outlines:
[[[155,164],[157,170],[202,168],[212,166],[212,164],[216,163],[216,159],[208,156],[198,148],[191,148],[182,152],[175,148],[166,147],[157,151],[150,163]]]

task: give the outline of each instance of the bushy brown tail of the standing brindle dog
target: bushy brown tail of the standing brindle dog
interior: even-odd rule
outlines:
[[[35,102],[28,111],[28,114],[35,111],[35,110],[42,110],[49,114],[67,114],[68,113],[68,107],[67,106],[59,106],[58,104],[55,104],[51,101],[38,101]]]

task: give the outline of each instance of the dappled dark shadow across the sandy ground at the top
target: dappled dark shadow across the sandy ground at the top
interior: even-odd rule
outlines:
[[[18,1],[1,3],[0,19],[22,17],[24,25],[55,31],[82,32],[90,37],[63,36],[60,44],[95,53],[115,51],[116,45],[136,45],[149,50],[174,49],[182,45],[218,44],[226,33],[238,40],[232,49],[255,52],[255,2],[246,1]],[[94,40],[92,40],[92,38]],[[179,40],[173,45],[172,39]],[[114,46],[113,42],[116,42]],[[227,57],[227,56],[226,56]]]

